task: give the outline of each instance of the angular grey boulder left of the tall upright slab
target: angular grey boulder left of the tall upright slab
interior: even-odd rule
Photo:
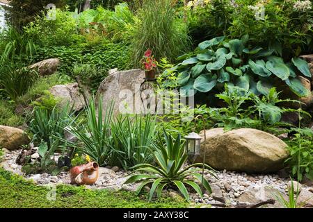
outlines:
[[[49,89],[49,92],[61,100],[61,105],[73,106],[74,111],[82,110],[86,103],[83,94],[79,91],[78,83],[70,83],[67,85],[54,85]]]

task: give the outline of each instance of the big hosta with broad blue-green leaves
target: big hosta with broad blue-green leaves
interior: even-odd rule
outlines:
[[[274,49],[248,46],[247,35],[241,40],[224,39],[222,36],[201,42],[193,53],[178,58],[182,62],[172,67],[172,70],[178,74],[180,88],[186,89],[185,96],[193,96],[197,92],[207,93],[212,89],[220,91],[224,83],[250,90],[257,95],[268,94],[273,83],[284,83],[298,96],[309,94],[297,78],[298,75],[311,78],[305,60],[293,58],[290,62],[284,62],[282,58],[274,56]]]

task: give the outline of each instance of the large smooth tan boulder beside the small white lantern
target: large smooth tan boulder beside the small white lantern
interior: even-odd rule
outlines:
[[[261,130],[241,128],[224,132],[223,128],[206,130],[205,162],[215,169],[268,173],[279,171],[289,155],[287,144]],[[200,133],[204,138],[204,131]],[[204,156],[204,139],[201,155]]]

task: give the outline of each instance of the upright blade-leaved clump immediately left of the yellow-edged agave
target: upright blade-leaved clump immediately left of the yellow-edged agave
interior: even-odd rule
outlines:
[[[111,166],[128,169],[153,162],[150,148],[156,137],[156,117],[120,116],[111,124],[111,136]]]

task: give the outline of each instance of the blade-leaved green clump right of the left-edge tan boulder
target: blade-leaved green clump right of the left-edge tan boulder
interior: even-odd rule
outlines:
[[[47,143],[48,148],[64,148],[65,127],[74,123],[74,112],[70,105],[63,108],[55,106],[51,111],[35,107],[33,119],[29,123],[29,130],[33,133],[33,141]],[[65,143],[66,144],[66,143]]]

